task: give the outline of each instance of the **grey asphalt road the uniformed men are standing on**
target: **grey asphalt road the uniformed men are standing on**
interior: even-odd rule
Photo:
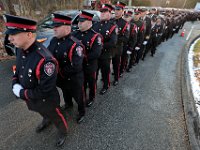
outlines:
[[[185,24],[186,35],[191,25]],[[158,47],[154,57],[148,54],[118,86],[97,96],[82,124],[76,124],[76,107],[65,113],[70,131],[63,149],[188,150],[180,87],[181,49],[186,42],[176,34]],[[55,127],[36,134],[41,117],[11,92],[12,64],[14,60],[0,62],[0,150],[54,150]]]

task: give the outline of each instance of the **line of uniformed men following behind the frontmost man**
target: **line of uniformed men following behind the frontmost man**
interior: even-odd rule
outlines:
[[[133,16],[132,11],[124,9],[122,2],[117,2],[115,7],[103,4],[100,21],[95,23],[94,14],[82,11],[79,30],[72,33],[71,18],[54,14],[55,37],[48,49],[60,65],[57,86],[64,96],[62,109],[73,107],[74,98],[78,104],[78,123],[84,119],[85,105],[90,107],[95,100],[99,72],[103,81],[100,94],[103,95],[110,87],[111,63],[116,86],[124,71],[130,72],[149,51],[153,56],[162,41],[177,33],[187,16],[184,12],[172,14],[171,11],[158,14],[155,9],[147,14],[146,8],[135,9]]]

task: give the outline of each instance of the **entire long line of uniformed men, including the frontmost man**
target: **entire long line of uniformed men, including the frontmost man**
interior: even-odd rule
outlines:
[[[92,21],[93,14],[82,11],[79,30],[75,32],[71,32],[72,18],[54,13],[52,26],[55,37],[48,50],[35,41],[36,22],[5,16],[6,34],[18,48],[13,93],[24,99],[30,110],[43,117],[37,132],[45,129],[50,122],[56,125],[60,133],[57,146],[65,141],[67,123],[60,111],[56,86],[63,93],[63,110],[73,107],[72,99],[76,101],[79,112],[77,123],[81,123],[85,105],[90,107],[95,100],[99,72],[103,81],[100,94],[103,95],[110,87],[111,62],[113,85],[116,86],[125,71],[130,72],[149,51],[153,56],[156,47],[178,33],[191,15],[171,11],[158,13],[156,9],[147,14],[146,8],[139,8],[134,10],[133,16],[132,11],[124,9],[122,2],[117,2],[114,8],[104,4],[100,9],[100,21],[96,23]]]

